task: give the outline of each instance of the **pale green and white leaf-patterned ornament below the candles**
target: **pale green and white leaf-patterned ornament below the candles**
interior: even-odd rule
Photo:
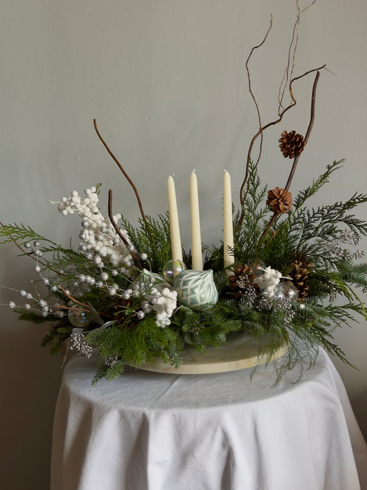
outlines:
[[[214,284],[213,271],[186,270],[174,278],[174,288],[182,305],[203,310],[218,301],[218,291]]]

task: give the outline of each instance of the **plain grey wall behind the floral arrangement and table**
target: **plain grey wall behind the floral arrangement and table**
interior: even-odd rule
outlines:
[[[302,7],[306,3],[300,0]],[[0,219],[25,223],[67,245],[78,218],[63,218],[48,200],[103,183],[114,212],[138,217],[134,194],[105,152],[98,127],[138,187],[147,214],[167,209],[166,179],[175,174],[182,238],[189,245],[189,174],[197,169],[202,240],[220,239],[223,168],[233,200],[249,141],[257,130],[244,62],[251,59],[262,121],[275,118],[277,89],[295,20],[293,0],[12,0],[0,16]],[[291,190],[306,187],[335,159],[344,169],[313,204],[366,190],[367,3],[317,0],[304,13],[295,74],[327,63],[316,119]],[[264,183],[284,185],[289,160],[277,148],[282,130],[305,133],[313,76],[295,85],[296,107],[266,134]],[[366,218],[366,206],[359,211]],[[364,241],[366,247],[366,241]],[[0,249],[0,284],[30,289],[32,261]],[[1,303],[17,300],[0,291]],[[366,294],[363,296],[366,300]],[[367,435],[366,323],[335,333],[356,371],[336,362]],[[46,327],[19,323],[3,307],[1,349],[1,487],[49,487],[60,359],[39,343]]]

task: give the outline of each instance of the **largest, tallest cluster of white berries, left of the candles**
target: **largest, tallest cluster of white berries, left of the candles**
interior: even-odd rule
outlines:
[[[79,234],[81,242],[79,249],[87,258],[94,258],[94,254],[108,258],[112,265],[129,268],[132,266],[131,250],[120,240],[109,218],[105,218],[98,208],[98,194],[96,187],[85,190],[85,198],[81,198],[78,192],[72,191],[70,197],[61,198],[58,209],[63,216],[77,212],[82,218],[82,229]],[[114,216],[117,222],[121,218],[120,214]],[[129,236],[124,229],[120,232],[130,243]]]

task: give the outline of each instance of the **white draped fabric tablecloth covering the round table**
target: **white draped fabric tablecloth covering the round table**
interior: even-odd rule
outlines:
[[[92,387],[96,365],[65,368],[52,490],[367,489],[366,442],[323,350],[273,388],[271,365],[252,380],[129,368]]]

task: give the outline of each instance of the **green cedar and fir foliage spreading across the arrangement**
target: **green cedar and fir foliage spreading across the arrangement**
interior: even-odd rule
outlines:
[[[253,307],[247,298],[233,298],[229,292],[227,275],[222,269],[223,247],[207,247],[205,267],[212,267],[214,280],[219,293],[218,303],[204,311],[193,311],[180,305],[171,317],[171,325],[161,328],[156,325],[154,315],[142,320],[136,319],[136,308],[140,298],[123,302],[110,296],[105,289],[78,289],[75,298],[78,303],[92,305],[103,323],[114,320],[109,327],[101,327],[92,322],[85,329],[85,342],[96,348],[101,359],[115,359],[112,365],[102,363],[94,377],[112,379],[123,373],[126,363],[140,365],[147,360],[160,358],[165,363],[180,365],[180,353],[187,347],[202,350],[210,345],[220,345],[233,334],[248,334],[259,339],[259,345],[269,348],[269,359],[282,345],[288,347],[287,354],[275,361],[279,378],[286,369],[297,365],[300,376],[306,367],[312,365],[317,354],[317,346],[322,345],[329,353],[335,354],[348,363],[344,352],[333,340],[333,329],[350,324],[355,314],[367,318],[364,305],[353,287],[367,290],[367,264],[355,264],[350,258],[325,254],[325,245],[337,241],[340,229],[346,226],[353,233],[367,234],[367,223],[359,220],[350,210],[365,203],[367,196],[354,194],[344,203],[324,205],[308,209],[306,201],[329,181],[333,172],[341,167],[342,161],[326,167],[326,171],[309,187],[298,193],[289,212],[273,224],[269,234],[262,236],[266,226],[269,209],[264,207],[266,187],[262,187],[257,168],[251,164],[249,181],[244,196],[243,221],[235,227],[233,253],[235,264],[253,263],[259,258],[280,270],[284,276],[289,273],[291,264],[300,257],[313,264],[308,276],[308,295],[302,303],[293,305],[293,318],[289,321],[286,310],[277,307],[275,300],[268,299],[269,309]],[[240,214],[234,216],[237,223]],[[138,254],[148,252],[151,269],[162,274],[162,267],[171,256],[169,218],[167,213],[157,218],[146,217],[133,227],[123,219],[123,227],[134,243]],[[147,231],[149,227],[149,232]],[[16,242],[23,248],[29,241],[41,241],[43,252],[43,272],[53,273],[58,286],[53,293],[63,305],[67,305],[70,295],[65,291],[78,274],[97,276],[100,273],[93,261],[80,252],[65,249],[40,236],[30,227],[23,225],[3,225],[0,229],[2,243]],[[153,238],[153,242],[151,242]],[[24,253],[27,253],[26,250]],[[45,259],[51,254],[50,260]],[[190,253],[184,251],[189,260]],[[62,272],[60,273],[60,271]],[[56,274],[55,274],[56,272]],[[129,280],[123,276],[114,278],[118,287],[126,289]],[[346,303],[328,302],[332,292],[344,296]],[[34,323],[50,321],[36,312],[17,309],[21,320]],[[50,331],[42,341],[52,354],[63,351],[65,343],[72,334],[72,325],[67,316],[52,323]]]

